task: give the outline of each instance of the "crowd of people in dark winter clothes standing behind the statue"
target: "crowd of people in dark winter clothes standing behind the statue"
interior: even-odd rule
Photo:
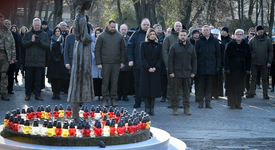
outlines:
[[[30,100],[32,92],[34,99],[43,100],[40,92],[45,76],[51,84],[51,99],[60,99],[60,91],[68,93],[70,72],[75,66],[72,60],[77,55],[73,49],[75,44],[79,46],[73,27],[62,21],[50,29],[47,21],[39,18],[33,19],[29,29],[11,24],[0,14],[1,99],[9,100],[6,93],[13,94],[19,70],[25,80],[25,100]],[[198,108],[204,103],[212,108],[211,99],[225,95],[228,108],[242,109],[241,97],[254,97],[255,88],[261,88],[260,77],[263,98],[269,99],[268,88],[274,91],[275,45],[261,25],[251,27],[247,36],[242,29],[235,29],[230,36],[226,26],[219,30],[198,25],[186,30],[179,21],[163,31],[160,24],[152,25],[148,18],[129,30],[121,24],[118,31],[113,19],[105,28],[90,29],[91,36],[77,38],[91,44],[88,67],[92,70],[94,100],[101,100],[103,106],[108,106],[108,100],[117,106],[117,100],[128,101],[127,95],[134,94],[133,107],[140,107],[144,101],[144,110],[150,115],[154,115],[157,97],[161,97],[160,102],[168,101],[173,115],[182,107],[184,114],[190,115],[193,82]]]

